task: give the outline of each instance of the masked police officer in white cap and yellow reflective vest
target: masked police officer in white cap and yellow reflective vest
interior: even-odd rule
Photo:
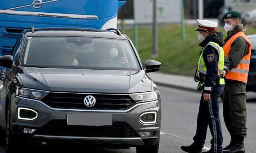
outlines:
[[[209,125],[212,134],[212,148],[207,153],[222,153],[222,130],[220,126],[218,99],[224,90],[226,71],[223,46],[223,34],[216,31],[217,22],[197,20],[199,31],[198,39],[202,41],[199,46],[204,47],[200,53],[195,81],[199,81],[198,90],[203,90],[200,100],[196,135],[194,143],[182,146],[181,149],[188,153],[202,153]],[[228,66],[228,63],[226,63]],[[225,68],[224,68],[225,67]]]

